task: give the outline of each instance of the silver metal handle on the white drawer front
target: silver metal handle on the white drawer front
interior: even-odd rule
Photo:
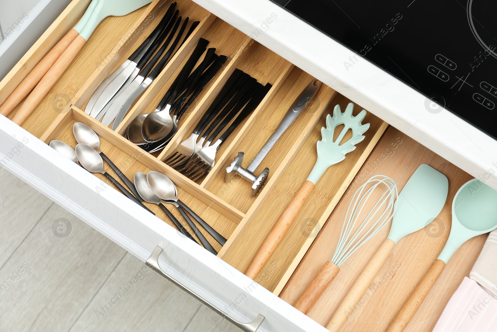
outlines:
[[[150,255],[149,259],[147,259],[146,264],[150,268],[152,268],[152,270],[154,270],[157,273],[159,273],[160,275],[162,275],[164,278],[166,278],[167,280],[169,280],[170,282],[172,282],[174,285],[178,286],[183,291],[185,291],[186,293],[190,294],[195,299],[197,299],[198,301],[200,301],[201,303],[203,303],[204,305],[206,305],[207,307],[209,307],[210,309],[212,309],[213,311],[215,311],[219,315],[223,316],[226,320],[228,320],[229,322],[233,323],[234,325],[236,325],[240,329],[242,329],[244,331],[247,331],[247,332],[255,332],[255,331],[257,331],[257,329],[259,328],[259,326],[262,324],[262,321],[264,321],[264,316],[262,316],[262,315],[259,314],[254,321],[252,321],[250,323],[241,323],[241,322],[237,321],[236,319],[234,319],[233,317],[231,317],[229,315],[226,315],[221,309],[219,309],[218,307],[214,306],[209,301],[207,301],[206,299],[204,299],[202,296],[196,294],[194,291],[192,291],[191,289],[189,289],[185,285],[182,285],[179,281],[177,281],[176,279],[174,279],[173,277],[171,277],[170,275],[168,275],[166,272],[164,272],[161,269],[161,267],[159,266],[159,256],[161,255],[162,252],[163,252],[163,249],[160,246],[157,246],[155,248],[155,250],[152,252],[152,255]]]

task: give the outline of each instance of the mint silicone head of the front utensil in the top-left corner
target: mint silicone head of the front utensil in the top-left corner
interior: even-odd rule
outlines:
[[[88,40],[96,26],[105,17],[124,16],[150,2],[152,0],[99,0],[80,36]]]

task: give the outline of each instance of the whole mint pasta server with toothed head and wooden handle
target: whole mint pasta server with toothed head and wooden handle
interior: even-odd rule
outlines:
[[[325,174],[326,170],[331,165],[345,159],[345,154],[353,151],[355,149],[355,144],[364,139],[365,136],[362,134],[369,128],[369,123],[361,123],[366,116],[366,111],[362,110],[359,114],[354,116],[352,114],[353,110],[354,105],[352,103],[348,104],[344,112],[340,111],[339,105],[336,105],[333,110],[333,116],[331,117],[330,114],[327,115],[326,128],[321,128],[322,139],[317,143],[318,160],[316,161],[311,174],[309,174],[307,180],[302,184],[302,187],[300,187],[297,194],[295,194],[278,221],[276,221],[248,266],[245,274],[252,280],[255,279],[274,250],[276,250],[276,247],[281,242],[288,229],[290,229],[292,222],[297,218],[300,209],[302,209],[316,183],[323,174]],[[335,128],[340,124],[343,124],[344,127],[338,134],[338,137],[333,141]],[[339,145],[348,129],[352,130],[351,137],[343,142],[343,144]]]

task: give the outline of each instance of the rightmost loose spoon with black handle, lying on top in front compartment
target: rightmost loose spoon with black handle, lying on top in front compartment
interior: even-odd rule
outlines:
[[[151,171],[147,174],[147,180],[149,181],[150,187],[154,191],[154,193],[163,201],[173,201],[179,204],[183,209],[186,210],[198,223],[202,225],[202,227],[207,230],[209,234],[212,235],[221,245],[225,245],[226,238],[224,238],[221,234],[219,234],[214,228],[212,228],[207,222],[205,222],[202,218],[197,216],[190,208],[186,206],[183,202],[178,199],[178,191],[174,183],[172,183],[171,179],[169,179],[166,175]]]

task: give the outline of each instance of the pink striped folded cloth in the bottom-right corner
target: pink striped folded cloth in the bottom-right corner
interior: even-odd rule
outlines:
[[[433,329],[433,332],[456,331],[497,331],[497,299],[468,277],[464,277]]]

